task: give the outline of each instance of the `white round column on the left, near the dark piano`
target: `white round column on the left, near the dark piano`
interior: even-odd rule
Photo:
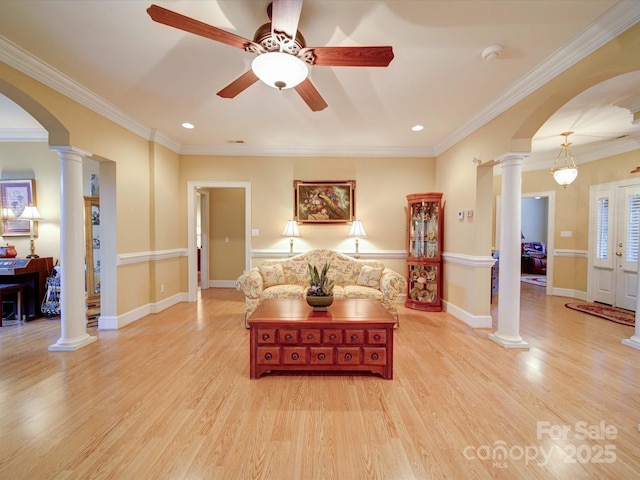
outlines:
[[[87,333],[84,272],[82,159],[88,152],[54,148],[60,156],[60,339],[52,352],[77,350],[97,337]]]

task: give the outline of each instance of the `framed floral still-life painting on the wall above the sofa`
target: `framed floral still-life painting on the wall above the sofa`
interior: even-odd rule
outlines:
[[[301,223],[345,223],[355,218],[355,180],[295,180],[295,217]]]

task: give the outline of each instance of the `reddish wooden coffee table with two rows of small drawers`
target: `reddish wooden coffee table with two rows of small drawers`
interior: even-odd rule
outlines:
[[[250,376],[368,371],[392,379],[395,323],[377,300],[336,299],[314,312],[304,299],[267,299],[248,319]]]

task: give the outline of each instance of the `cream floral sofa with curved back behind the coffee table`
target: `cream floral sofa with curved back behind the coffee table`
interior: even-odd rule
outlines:
[[[302,298],[309,287],[309,267],[320,270],[331,264],[335,298],[372,298],[381,301],[398,321],[398,295],[406,291],[404,276],[376,260],[357,260],[332,250],[311,250],[285,260],[265,260],[238,278],[236,288],[244,293],[247,318],[266,298]]]

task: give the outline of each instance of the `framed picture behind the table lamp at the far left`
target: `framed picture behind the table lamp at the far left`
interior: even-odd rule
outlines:
[[[24,207],[35,205],[35,180],[0,180],[0,203],[2,203],[2,236],[28,237],[31,233],[29,220],[18,220]],[[37,235],[37,224],[33,222],[33,234]]]

